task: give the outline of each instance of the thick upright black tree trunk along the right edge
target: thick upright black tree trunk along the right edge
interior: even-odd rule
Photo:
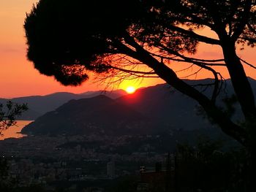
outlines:
[[[246,122],[244,129],[247,134],[246,150],[247,156],[247,182],[246,191],[256,191],[256,107],[252,87],[249,84],[244,67],[236,55],[235,42],[229,39],[222,41],[222,51],[225,64],[230,74],[230,79],[236,93],[241,110]]]

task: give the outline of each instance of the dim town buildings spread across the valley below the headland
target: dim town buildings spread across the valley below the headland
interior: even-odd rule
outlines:
[[[18,185],[54,182],[113,180],[138,174],[140,166],[164,162],[154,140],[160,135],[117,138],[86,136],[34,136],[0,141],[0,154],[10,167],[9,177]],[[139,140],[137,146],[130,143]]]

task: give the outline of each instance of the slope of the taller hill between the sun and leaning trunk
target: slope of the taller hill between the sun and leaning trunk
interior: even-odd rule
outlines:
[[[169,85],[143,88],[132,95],[121,97],[118,101],[141,112],[164,130],[212,126],[206,118],[197,115],[199,108],[195,101],[173,91]]]

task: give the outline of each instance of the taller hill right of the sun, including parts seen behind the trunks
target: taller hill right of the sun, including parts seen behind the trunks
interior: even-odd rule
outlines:
[[[249,78],[252,85],[252,90],[256,95],[256,81]],[[186,80],[189,85],[195,85],[199,91],[211,96],[212,87],[206,88],[211,79],[206,80]],[[233,87],[230,80],[226,80],[222,85],[222,91],[219,93],[217,105],[225,108],[225,103],[222,99],[233,95]],[[207,118],[204,118],[201,107],[197,102],[188,96],[174,90],[170,85],[162,84],[148,88],[143,88],[132,95],[122,96],[117,99],[122,104],[127,104],[133,107],[138,112],[141,112],[148,118],[154,119],[161,126],[170,128],[194,129],[213,126]],[[240,106],[234,104],[236,109]],[[233,120],[242,119],[242,114],[239,110],[233,115]]]

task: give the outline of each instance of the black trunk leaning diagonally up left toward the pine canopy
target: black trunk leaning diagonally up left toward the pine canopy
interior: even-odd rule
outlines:
[[[181,93],[195,99],[195,101],[197,101],[206,111],[208,117],[212,118],[220,126],[220,128],[222,128],[222,131],[224,131],[225,134],[233,137],[242,145],[245,145],[244,142],[246,141],[246,132],[244,128],[241,128],[240,126],[236,125],[236,123],[233,123],[230,118],[227,118],[225,113],[219,110],[214,102],[208,99],[207,96],[200,93],[200,91],[197,91],[197,89],[193,88],[191,85],[188,85],[183,80],[179,79],[172,69],[165,66],[165,64],[160,63],[157,61],[157,59],[151,57],[151,55],[149,55],[145,50],[139,48],[140,47],[138,47],[137,50],[138,55],[133,56],[144,64],[147,64],[149,67],[151,67],[151,69],[154,69],[154,72],[156,72],[156,74],[162,78],[162,80],[165,80],[165,82],[173,86],[173,88],[176,88],[176,90],[180,91]]]

